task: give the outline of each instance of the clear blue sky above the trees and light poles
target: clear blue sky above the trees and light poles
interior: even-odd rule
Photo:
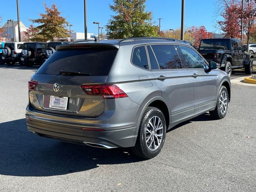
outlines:
[[[28,27],[31,22],[30,18],[36,19],[39,13],[44,12],[43,0],[20,0],[20,20]],[[50,6],[55,3],[61,15],[67,18],[70,24],[73,24],[74,32],[84,32],[84,0],[45,0]],[[204,25],[208,32],[219,32],[214,28],[216,20],[220,17],[215,16],[216,0],[185,0],[185,26],[201,26]],[[110,15],[114,13],[110,10],[109,4],[113,4],[112,0],[87,0],[87,30],[88,33],[98,34],[94,21],[100,22],[100,26],[108,23]],[[16,0],[1,0],[2,23],[8,19],[17,20]],[[181,23],[181,0],[147,0],[146,10],[152,11],[153,21],[158,24],[157,18],[161,20],[161,30],[171,28],[179,28]],[[102,32],[105,32],[103,29]]]

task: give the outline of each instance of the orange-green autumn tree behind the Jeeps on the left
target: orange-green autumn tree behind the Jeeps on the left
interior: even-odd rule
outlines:
[[[45,13],[40,13],[40,18],[30,19],[31,22],[39,24],[35,27],[38,33],[30,39],[32,41],[52,41],[54,38],[66,38],[69,31],[66,29],[68,22],[66,18],[60,16],[60,11],[56,4],[47,7],[44,3]]]

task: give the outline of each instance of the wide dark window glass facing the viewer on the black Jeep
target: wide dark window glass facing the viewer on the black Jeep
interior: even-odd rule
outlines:
[[[214,40],[206,39],[202,40],[199,46],[199,50],[230,50],[229,41],[226,39]]]

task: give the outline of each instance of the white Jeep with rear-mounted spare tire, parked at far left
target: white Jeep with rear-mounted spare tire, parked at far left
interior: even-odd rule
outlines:
[[[2,60],[8,65],[14,65],[16,62],[20,62],[22,45],[24,42],[6,42],[4,44]]]

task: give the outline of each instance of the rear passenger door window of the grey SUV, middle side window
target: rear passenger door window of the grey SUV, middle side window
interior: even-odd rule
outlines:
[[[174,45],[151,46],[160,69],[180,69],[182,64]]]

